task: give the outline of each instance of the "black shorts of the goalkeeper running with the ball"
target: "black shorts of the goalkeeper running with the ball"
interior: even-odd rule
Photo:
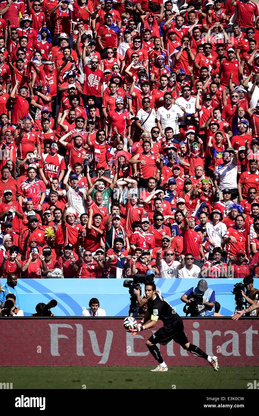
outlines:
[[[168,342],[172,341],[172,339],[177,342],[177,344],[182,346],[189,342],[184,332],[183,323],[175,326],[174,328],[159,328],[158,331],[155,332],[148,340],[152,342],[152,344],[167,345]]]

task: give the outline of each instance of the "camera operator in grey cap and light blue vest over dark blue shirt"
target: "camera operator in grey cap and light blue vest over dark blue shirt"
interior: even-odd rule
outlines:
[[[195,298],[197,296],[203,298],[200,305],[196,302]],[[208,287],[204,279],[199,280],[197,287],[191,287],[187,290],[182,295],[181,301],[191,307],[191,316],[214,316],[215,292]]]

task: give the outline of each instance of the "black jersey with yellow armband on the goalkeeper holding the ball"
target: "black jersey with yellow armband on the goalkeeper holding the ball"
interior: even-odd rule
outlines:
[[[152,321],[161,321],[164,327],[173,328],[182,324],[182,318],[175,312],[173,307],[162,296],[156,293],[154,300],[147,301],[147,312],[151,314]]]

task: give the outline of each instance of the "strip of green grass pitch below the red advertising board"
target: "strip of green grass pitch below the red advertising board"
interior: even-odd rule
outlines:
[[[220,363],[219,363],[220,366]],[[152,373],[152,367],[0,367],[13,389],[247,389],[258,367],[169,367]]]

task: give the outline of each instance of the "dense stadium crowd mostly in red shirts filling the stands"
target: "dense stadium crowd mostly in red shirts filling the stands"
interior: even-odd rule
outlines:
[[[259,12],[0,3],[2,277],[259,276]]]

